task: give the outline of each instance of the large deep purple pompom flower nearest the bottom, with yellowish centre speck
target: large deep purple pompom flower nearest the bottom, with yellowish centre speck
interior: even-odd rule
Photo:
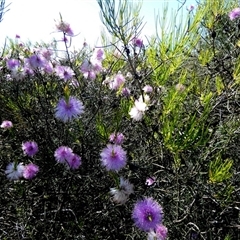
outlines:
[[[138,228],[150,231],[162,222],[162,207],[152,198],[145,198],[135,204],[132,219]]]

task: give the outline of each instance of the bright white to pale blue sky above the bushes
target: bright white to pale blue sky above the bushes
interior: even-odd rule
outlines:
[[[118,0],[116,0],[118,1]],[[132,0],[138,2],[138,0]],[[141,16],[144,16],[146,26],[143,35],[155,33],[154,12],[162,12],[164,3],[169,8],[178,8],[177,0],[143,0]],[[187,5],[194,4],[194,0],[187,0]],[[99,7],[96,0],[6,0],[11,3],[9,11],[0,23],[0,44],[6,36],[14,38],[16,34],[25,42],[50,42],[53,38],[61,38],[55,33],[54,20],[59,19],[61,12],[63,19],[69,22],[75,34],[73,45],[80,48],[86,40],[90,45],[100,44],[102,23],[99,17]]]

